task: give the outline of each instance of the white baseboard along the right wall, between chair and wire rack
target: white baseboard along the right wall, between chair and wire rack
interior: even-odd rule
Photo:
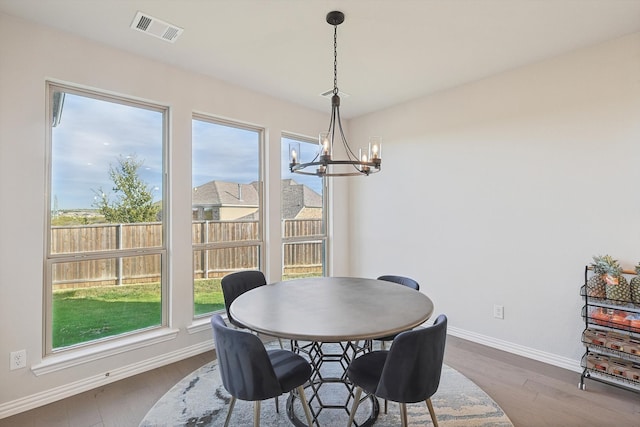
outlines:
[[[580,360],[558,356],[557,354],[536,350],[535,348],[525,347],[523,345],[499,340],[497,338],[466,331],[464,329],[456,328],[453,326],[449,326],[447,328],[447,333],[453,335],[454,337],[462,338],[478,344],[483,344],[488,347],[506,351],[508,353],[517,354],[518,356],[537,360],[539,362],[547,363],[559,368],[568,369],[574,372],[582,372],[582,368],[580,367]]]

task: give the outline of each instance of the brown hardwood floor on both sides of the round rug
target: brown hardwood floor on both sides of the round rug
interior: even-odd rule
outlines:
[[[181,378],[214,352],[0,420],[0,427],[135,427]],[[640,394],[480,344],[449,337],[445,363],[487,392],[516,427],[638,427]]]

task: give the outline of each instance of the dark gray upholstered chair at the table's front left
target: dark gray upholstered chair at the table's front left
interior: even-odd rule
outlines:
[[[211,317],[216,355],[224,388],[231,395],[225,427],[237,399],[253,401],[253,425],[260,426],[260,402],[277,398],[296,389],[307,422],[311,411],[304,385],[311,377],[311,365],[302,356],[288,350],[267,350],[257,336],[227,326],[222,316]],[[276,405],[277,408],[277,405]]]

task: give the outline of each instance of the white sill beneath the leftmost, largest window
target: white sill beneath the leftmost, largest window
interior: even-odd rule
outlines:
[[[37,365],[33,365],[31,371],[36,376],[40,376],[72,368],[84,363],[175,339],[179,331],[179,329],[163,328],[110,342],[78,348],[76,350],[65,351],[60,354],[53,354],[44,357]]]

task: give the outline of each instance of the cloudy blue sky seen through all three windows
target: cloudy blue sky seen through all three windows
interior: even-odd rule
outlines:
[[[249,183],[258,179],[259,135],[253,130],[193,121],[192,182]],[[289,141],[281,144],[281,175],[322,191],[322,180],[289,172]],[[303,148],[315,149],[314,144]],[[52,128],[51,205],[92,208],[95,191],[114,197],[110,165],[120,156],[143,162],[139,174],[162,198],[162,113],[67,93],[60,123]],[[304,154],[304,151],[303,151]],[[95,191],[94,191],[95,190]]]

